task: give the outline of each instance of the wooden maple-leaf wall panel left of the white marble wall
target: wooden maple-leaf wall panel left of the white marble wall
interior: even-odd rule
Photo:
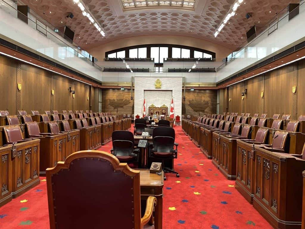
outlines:
[[[131,89],[102,89],[102,112],[133,114],[135,100],[130,99]]]

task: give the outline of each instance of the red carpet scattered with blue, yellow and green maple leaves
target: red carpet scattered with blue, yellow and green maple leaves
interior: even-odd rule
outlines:
[[[164,182],[163,229],[264,228],[271,225],[226,180],[211,160],[196,148],[181,127],[175,127],[180,178],[167,174]],[[112,144],[100,148],[109,152]],[[0,208],[1,229],[49,229],[46,182]]]

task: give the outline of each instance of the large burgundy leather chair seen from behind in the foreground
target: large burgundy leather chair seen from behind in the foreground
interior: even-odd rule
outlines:
[[[156,198],[148,197],[141,218],[140,172],[112,154],[78,151],[46,169],[46,179],[50,229],[154,228]]]

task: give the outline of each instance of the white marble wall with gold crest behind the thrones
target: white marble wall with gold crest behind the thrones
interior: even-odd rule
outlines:
[[[161,80],[161,89],[155,88],[157,79]],[[182,111],[182,77],[135,77],[135,115],[143,113],[144,96],[146,100],[146,114],[148,107],[165,104],[170,111],[171,97],[174,98],[174,115],[181,116]]]

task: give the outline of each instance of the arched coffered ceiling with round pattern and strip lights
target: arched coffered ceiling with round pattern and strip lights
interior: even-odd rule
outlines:
[[[184,1],[194,2],[194,8],[179,8],[164,4],[148,6],[145,4],[153,1],[143,0],[141,7],[127,7],[128,9],[123,6],[122,0],[83,0],[100,25],[104,26],[105,38],[92,24],[89,24],[90,21],[82,15],[80,8],[74,4],[73,0],[20,0],[18,2],[29,5],[57,28],[63,28],[65,25],[70,27],[75,32],[74,42],[83,49],[137,35],[184,35],[209,40],[234,49],[246,41],[246,31],[250,27],[256,25],[259,30],[289,3],[299,1],[244,0],[237,9],[236,15],[229,20],[217,38],[214,38],[215,26],[221,23],[234,0]],[[160,2],[171,4],[172,0]],[[74,14],[73,19],[66,18],[69,13]],[[246,18],[247,13],[252,14],[249,19]]]

